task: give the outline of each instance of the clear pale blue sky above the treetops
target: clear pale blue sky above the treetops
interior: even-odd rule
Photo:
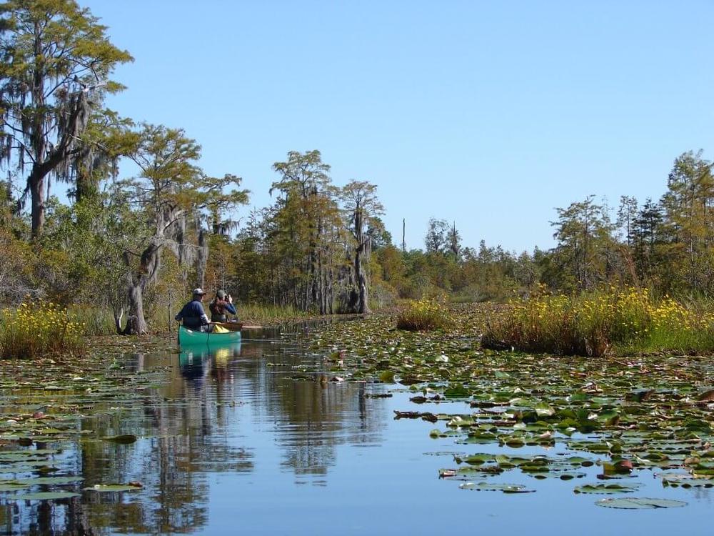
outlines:
[[[713,158],[711,0],[79,3],[135,58],[112,108],[185,129],[256,207],[273,162],[319,149],[409,248],[430,217],[552,247],[554,207],[657,199],[680,153]]]

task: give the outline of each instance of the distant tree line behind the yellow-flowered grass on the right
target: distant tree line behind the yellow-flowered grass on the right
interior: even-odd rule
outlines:
[[[444,291],[464,301],[508,299],[541,284],[560,292],[613,284],[714,298],[713,167],[701,150],[688,151],[675,159],[656,201],[623,195],[610,208],[590,195],[555,209],[549,250],[516,254],[483,241],[478,249],[462,247],[455,224],[431,219],[424,251],[378,249],[381,279],[400,296]]]

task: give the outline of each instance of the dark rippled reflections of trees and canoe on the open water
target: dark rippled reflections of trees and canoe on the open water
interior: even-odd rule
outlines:
[[[266,357],[266,349],[273,355]],[[143,488],[83,492],[56,502],[9,502],[0,509],[0,523],[11,534],[193,532],[208,523],[211,475],[253,471],[256,452],[236,442],[250,442],[244,435],[256,422],[259,428],[275,427],[283,467],[296,475],[326,475],[337,461],[338,445],[377,442],[381,425],[366,411],[363,384],[321,382],[314,374],[296,381],[290,367],[266,367],[268,360],[309,359],[268,343],[190,356],[132,356],[127,373],[171,364],[169,384],[98,403],[100,410],[81,427],[92,430],[92,438],[134,434],[139,440],[64,444],[63,472],[57,474],[82,475],[75,490],[131,481]],[[248,411],[236,411],[246,404]],[[241,418],[253,420],[245,423],[243,435]]]

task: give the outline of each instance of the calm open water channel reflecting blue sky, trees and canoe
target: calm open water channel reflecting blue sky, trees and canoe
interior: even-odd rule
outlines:
[[[415,410],[400,386],[329,381],[321,354],[276,333],[231,348],[127,355],[127,374],[158,371],[168,382],[113,400],[81,421],[101,435],[134,434],[129,445],[62,445],[60,465],[84,482],[139,481],[131,492],[82,492],[58,501],[3,501],[9,534],[245,535],[648,535],[711,532],[710,490],[665,489],[645,478],[638,497],[684,500],[686,507],[612,510],[600,495],[575,495],[577,481],[534,480],[506,472],[491,482],[522,483],[534,493],[460,490],[438,478],[453,453],[547,454],[543,448],[459,445],[431,439],[443,422],[394,420]],[[419,410],[463,412],[466,405]],[[557,449],[555,449],[557,452]],[[515,473],[515,474],[514,474]],[[476,482],[483,480],[476,477]],[[624,496],[623,496],[624,497]]]

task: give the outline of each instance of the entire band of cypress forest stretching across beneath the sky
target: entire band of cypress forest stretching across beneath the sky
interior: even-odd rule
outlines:
[[[701,151],[662,170],[660,199],[623,195],[613,208],[590,196],[557,209],[547,251],[467,247],[438,215],[423,249],[406,249],[383,226],[377,185],[337,186],[318,150],[276,155],[273,204],[246,214],[240,169],[208,176],[180,125],[106,107],[124,90],[114,69],[132,58],[89,10],[70,0],[2,9],[2,303],[111,310],[118,332],[136,334],[193,287],[315,314],[438,294],[506,300],[541,284],[712,297],[713,163]]]

